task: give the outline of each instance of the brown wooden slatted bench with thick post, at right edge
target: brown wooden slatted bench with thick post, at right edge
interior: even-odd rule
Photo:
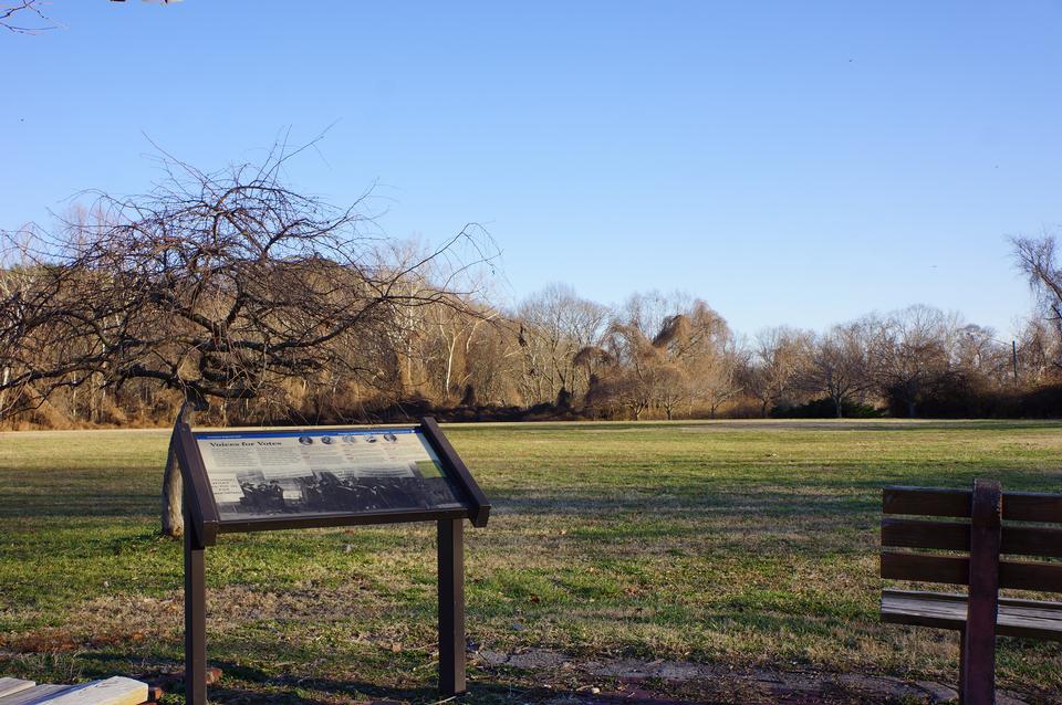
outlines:
[[[1062,603],[999,597],[1062,592],[1062,564],[1000,558],[1062,557],[1062,494],[1002,492],[983,480],[972,491],[886,487],[882,513],[882,578],[968,586],[967,594],[882,590],[883,621],[960,633],[960,703],[996,702],[997,634],[1062,641]]]

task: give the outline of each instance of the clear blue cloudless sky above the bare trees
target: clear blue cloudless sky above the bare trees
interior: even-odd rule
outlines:
[[[339,120],[290,170],[468,221],[510,297],[687,290],[740,332],[927,303],[1010,334],[1062,224],[1062,2],[53,0],[0,35],[0,227]]]

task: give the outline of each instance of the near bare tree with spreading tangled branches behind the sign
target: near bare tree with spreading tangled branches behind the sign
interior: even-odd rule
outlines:
[[[342,372],[378,382],[378,366],[356,352],[397,314],[464,306],[461,282],[493,256],[480,229],[402,256],[362,214],[362,199],[335,208],[282,181],[298,151],[279,145],[261,164],[219,172],[165,157],[166,178],[150,192],[96,193],[100,222],[39,231],[0,301],[0,414],[91,379],[285,409],[289,380]],[[181,530],[173,463],[164,530]]]

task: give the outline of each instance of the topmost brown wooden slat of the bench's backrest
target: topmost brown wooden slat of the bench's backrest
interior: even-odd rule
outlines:
[[[970,516],[970,491],[950,487],[885,487],[883,514]],[[1010,522],[1062,524],[1062,494],[1004,492],[1003,518]]]

